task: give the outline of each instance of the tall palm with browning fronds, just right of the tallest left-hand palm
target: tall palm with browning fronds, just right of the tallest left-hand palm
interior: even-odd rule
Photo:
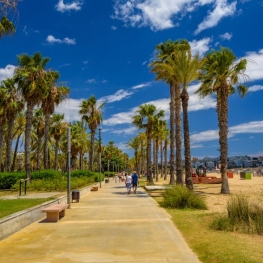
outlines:
[[[55,111],[55,106],[58,106],[63,99],[65,99],[70,89],[65,86],[55,86],[54,83],[59,78],[59,73],[56,71],[51,71],[48,73],[50,76],[48,88],[49,92],[47,97],[45,97],[42,101],[42,109],[45,115],[45,140],[44,140],[44,169],[48,167],[48,135],[49,135],[49,127],[50,127],[50,117]]]

